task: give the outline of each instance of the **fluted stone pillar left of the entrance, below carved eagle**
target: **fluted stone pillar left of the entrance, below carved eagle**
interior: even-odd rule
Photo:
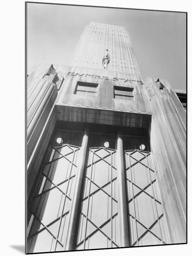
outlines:
[[[43,67],[42,72],[46,72]],[[42,74],[38,74],[38,79],[34,78],[27,83],[28,88],[34,88],[31,93],[27,91],[27,94],[29,93],[27,99],[27,162],[32,157],[38,138],[58,95],[54,81],[58,81],[58,73],[54,67],[50,67],[43,78]]]

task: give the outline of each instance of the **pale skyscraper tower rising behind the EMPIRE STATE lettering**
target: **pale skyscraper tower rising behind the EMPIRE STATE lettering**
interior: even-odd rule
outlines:
[[[130,36],[125,27],[90,22],[83,30],[70,66],[102,68],[106,49],[111,57],[108,70],[140,74]]]

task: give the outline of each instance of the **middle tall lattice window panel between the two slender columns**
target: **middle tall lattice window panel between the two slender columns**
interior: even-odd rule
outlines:
[[[90,148],[77,249],[118,247],[118,191],[114,149]]]

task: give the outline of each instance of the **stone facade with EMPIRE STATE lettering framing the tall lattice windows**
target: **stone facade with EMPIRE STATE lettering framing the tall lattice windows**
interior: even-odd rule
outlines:
[[[97,84],[96,95],[76,94],[78,82]],[[133,100],[115,98],[115,87],[132,88]],[[58,123],[141,129],[150,140],[169,243],[186,243],[186,111],[166,80],[42,64],[27,78],[27,95],[29,202]]]

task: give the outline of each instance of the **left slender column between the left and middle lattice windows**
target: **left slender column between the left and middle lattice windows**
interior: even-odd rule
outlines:
[[[74,244],[75,244],[75,237],[77,232],[79,207],[81,204],[81,189],[82,189],[82,183],[83,183],[83,172],[84,172],[84,166],[85,166],[85,157],[87,152],[88,138],[89,138],[89,128],[86,127],[83,135],[81,153],[79,158],[80,162],[77,170],[77,179],[76,179],[73,202],[71,205],[70,223],[69,223],[68,237],[67,237],[65,250],[75,249]]]

